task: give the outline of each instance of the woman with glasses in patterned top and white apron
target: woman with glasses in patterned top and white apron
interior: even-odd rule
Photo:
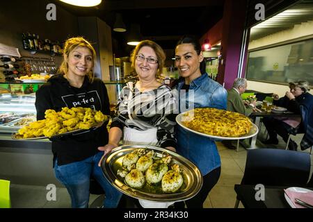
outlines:
[[[175,98],[171,89],[158,80],[165,59],[161,46],[150,40],[140,42],[134,49],[131,67],[136,71],[138,81],[129,82],[122,89],[109,142],[99,147],[104,155],[118,146],[122,135],[124,145],[145,144],[175,151],[175,119],[172,116]]]

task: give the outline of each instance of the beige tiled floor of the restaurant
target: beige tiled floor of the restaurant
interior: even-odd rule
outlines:
[[[296,142],[300,141],[299,138],[295,140]],[[247,152],[243,147],[240,147],[239,152],[236,152],[225,148],[220,142],[217,142],[217,144],[222,161],[222,171],[217,185],[207,196],[204,207],[232,208],[236,202],[234,185],[239,184],[243,177]],[[262,144],[257,143],[257,146],[262,147]],[[284,143],[281,142],[278,147],[284,147]],[[311,167],[312,171],[313,167]],[[65,188],[56,189],[56,196],[58,197],[56,201],[47,200],[45,187],[11,185],[10,194],[12,207],[70,207],[70,196]],[[97,195],[90,195],[90,203],[93,203],[98,197]],[[242,207],[242,205],[239,205],[239,207]]]

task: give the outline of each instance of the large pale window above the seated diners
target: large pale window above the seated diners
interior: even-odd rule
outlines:
[[[307,80],[313,85],[313,39],[250,51],[246,78],[287,84]]]

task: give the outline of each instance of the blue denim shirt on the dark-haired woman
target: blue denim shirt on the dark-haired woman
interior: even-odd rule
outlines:
[[[193,80],[190,84],[188,92],[181,91],[184,81],[178,83],[175,90],[179,93],[179,112],[185,107],[187,110],[193,108],[217,108],[226,110],[227,107],[227,91],[214,80],[211,80],[207,74]],[[193,91],[192,91],[193,90]],[[193,92],[192,96],[188,96]],[[193,100],[193,101],[191,101]],[[192,105],[187,105],[188,102]],[[214,140],[209,137],[202,137],[198,134],[184,130],[181,126],[177,126],[177,153],[191,160],[199,169],[202,176],[207,175],[210,171],[220,167],[220,155],[218,153]]]

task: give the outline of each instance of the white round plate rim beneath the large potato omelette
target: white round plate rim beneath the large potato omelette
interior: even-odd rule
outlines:
[[[188,111],[186,111],[186,112],[188,112]],[[255,125],[255,123],[252,123],[252,127],[251,127],[249,133],[247,133],[246,135],[242,135],[240,137],[219,137],[219,136],[209,135],[209,134],[205,134],[205,133],[200,133],[198,131],[192,130],[192,129],[184,126],[184,124],[182,123],[182,116],[186,112],[182,112],[181,114],[177,115],[176,121],[177,121],[178,125],[182,126],[182,128],[184,128],[187,131],[190,131],[192,133],[201,135],[203,137],[209,137],[209,138],[212,138],[212,139],[233,140],[233,139],[247,139],[247,138],[250,138],[250,137],[254,137],[255,135],[257,135],[257,133],[259,133],[259,129]]]

